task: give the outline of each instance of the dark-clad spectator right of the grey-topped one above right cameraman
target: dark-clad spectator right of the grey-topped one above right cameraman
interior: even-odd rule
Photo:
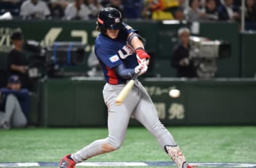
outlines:
[[[205,19],[206,20],[218,20],[218,10],[217,10],[217,4],[215,0],[206,0],[205,5]]]

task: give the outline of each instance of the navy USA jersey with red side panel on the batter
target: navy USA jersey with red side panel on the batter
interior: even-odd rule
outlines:
[[[103,70],[106,82],[111,85],[125,83],[126,79],[119,77],[114,68],[124,64],[127,69],[134,69],[137,58],[134,49],[127,43],[127,36],[136,30],[125,24],[125,29],[119,31],[116,39],[111,39],[102,33],[95,39],[94,52]]]

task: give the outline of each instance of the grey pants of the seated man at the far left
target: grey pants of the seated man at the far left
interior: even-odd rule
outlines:
[[[20,103],[14,95],[6,98],[5,112],[0,112],[0,124],[4,121],[11,124],[11,127],[22,128],[27,124],[27,119],[21,110]]]

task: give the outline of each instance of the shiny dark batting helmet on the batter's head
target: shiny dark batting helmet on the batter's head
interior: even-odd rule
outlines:
[[[97,24],[101,32],[106,32],[106,29],[119,30],[124,28],[122,14],[114,7],[102,9],[98,14]]]

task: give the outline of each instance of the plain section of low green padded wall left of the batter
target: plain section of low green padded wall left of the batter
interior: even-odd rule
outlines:
[[[103,81],[47,80],[41,83],[40,123],[43,126],[102,126],[107,109]]]

